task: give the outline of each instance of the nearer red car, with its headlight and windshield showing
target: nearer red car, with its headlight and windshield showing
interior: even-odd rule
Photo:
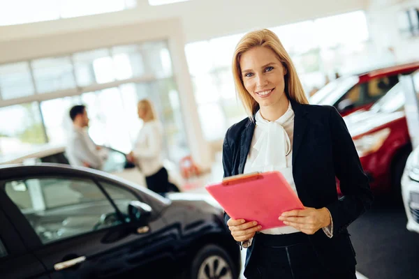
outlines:
[[[368,110],[358,110],[344,120],[374,193],[399,196],[404,165],[412,149],[402,84],[396,84]]]

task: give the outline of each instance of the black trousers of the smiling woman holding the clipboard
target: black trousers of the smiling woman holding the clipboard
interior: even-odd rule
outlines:
[[[258,233],[255,238],[244,274],[248,279],[356,279],[355,266],[353,271],[330,273],[319,260],[307,234]]]

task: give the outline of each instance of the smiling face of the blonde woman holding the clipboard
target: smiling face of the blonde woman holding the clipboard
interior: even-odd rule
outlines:
[[[240,57],[244,88],[260,108],[279,105],[285,95],[286,68],[275,52],[267,47],[253,47]]]

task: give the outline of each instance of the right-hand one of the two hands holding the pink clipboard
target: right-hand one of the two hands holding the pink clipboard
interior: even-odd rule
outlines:
[[[304,209],[286,211],[281,214],[279,220],[283,221],[285,225],[304,232],[304,234],[314,234],[331,223],[329,211],[325,207],[314,209],[304,206]]]

